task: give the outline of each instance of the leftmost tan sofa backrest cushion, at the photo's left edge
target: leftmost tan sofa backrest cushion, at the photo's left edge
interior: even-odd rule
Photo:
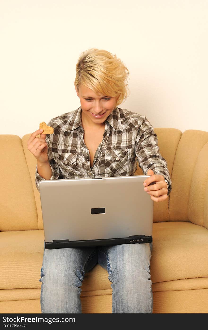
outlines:
[[[21,139],[2,134],[0,146],[0,230],[38,229],[34,191]]]

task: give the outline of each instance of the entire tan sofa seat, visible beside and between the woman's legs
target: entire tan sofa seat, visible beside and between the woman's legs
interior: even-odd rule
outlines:
[[[0,232],[0,289],[40,289],[43,230]],[[152,282],[208,277],[208,230],[191,222],[153,223]],[[85,274],[82,291],[111,289],[96,265]],[[107,291],[106,291],[107,292]]]

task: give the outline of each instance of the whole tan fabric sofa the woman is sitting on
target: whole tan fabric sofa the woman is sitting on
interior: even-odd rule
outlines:
[[[153,313],[208,312],[208,132],[155,128],[172,192],[154,202]],[[41,313],[44,232],[30,134],[0,135],[0,311]],[[140,168],[136,175],[142,175]],[[111,313],[107,271],[97,264],[81,286],[83,313]]]

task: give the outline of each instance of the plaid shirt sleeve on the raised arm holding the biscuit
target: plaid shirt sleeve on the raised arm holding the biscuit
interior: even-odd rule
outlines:
[[[46,135],[45,142],[47,142],[48,145],[49,137]],[[52,152],[50,149],[48,149],[48,161],[52,170],[52,176],[49,180],[56,180],[56,179],[64,179],[63,174],[60,171],[60,168],[58,167],[57,163],[55,162]],[[36,182],[36,188],[40,192],[39,189],[39,182],[40,181],[46,181],[44,178],[42,178],[37,171],[38,165],[36,165],[36,173],[35,173],[35,182]]]

